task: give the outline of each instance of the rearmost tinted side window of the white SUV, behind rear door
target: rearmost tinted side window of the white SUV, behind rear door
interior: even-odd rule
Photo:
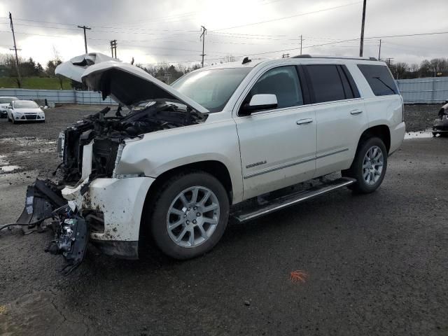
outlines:
[[[398,94],[398,88],[385,65],[358,64],[375,96]]]

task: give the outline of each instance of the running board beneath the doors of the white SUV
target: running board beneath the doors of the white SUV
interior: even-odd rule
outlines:
[[[300,190],[299,192],[277,197],[274,200],[265,202],[265,204],[255,204],[252,207],[248,207],[248,209],[237,209],[235,212],[232,212],[230,216],[232,216],[232,218],[234,218],[237,222],[244,223],[246,221],[251,221],[255,218],[271,214],[274,211],[279,211],[300,202],[310,200],[311,198],[314,198],[316,196],[329,193],[330,191],[350,186],[355,182],[356,179],[342,177],[336,180],[319,184],[318,186]]]

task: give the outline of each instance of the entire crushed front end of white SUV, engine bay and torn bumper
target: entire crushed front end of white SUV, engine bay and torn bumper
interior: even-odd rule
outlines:
[[[36,180],[27,190],[25,209],[18,223],[25,231],[39,228],[52,218],[55,237],[47,251],[62,254],[68,274],[82,262],[90,242],[108,255],[138,258],[141,213],[154,179],[137,174],[117,174],[123,151],[144,134],[200,123],[188,108],[151,102],[122,116],[120,107],[87,116],[59,134],[62,162],[59,181]]]

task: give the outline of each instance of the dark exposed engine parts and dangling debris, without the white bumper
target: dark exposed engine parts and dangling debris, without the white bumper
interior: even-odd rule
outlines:
[[[112,177],[117,158],[123,151],[125,141],[144,134],[169,130],[202,123],[207,115],[194,111],[179,102],[155,100],[143,108],[130,110],[123,116],[121,105],[113,116],[110,107],[86,116],[59,134],[58,153],[62,163],[57,167],[59,181],[36,181],[27,188],[25,209],[17,223],[27,224],[25,234],[33,230],[52,228],[54,238],[50,241],[48,251],[61,254],[65,264],[62,274],[66,275],[76,269],[83,261],[90,232],[104,230],[102,211],[95,209],[77,209],[76,203],[67,201],[62,195],[66,186],[83,183],[80,194],[87,193],[89,184],[97,178]],[[87,182],[83,173],[83,148],[92,144],[92,162]],[[45,219],[52,218],[50,225],[42,227]]]

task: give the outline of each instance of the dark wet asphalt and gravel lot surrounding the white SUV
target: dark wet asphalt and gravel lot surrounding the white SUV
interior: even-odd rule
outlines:
[[[412,130],[437,113],[426,106],[425,122],[407,107]],[[0,120],[2,160],[23,169],[0,174],[0,223],[18,218],[27,184],[58,162],[52,141],[83,111]],[[186,262],[91,249],[63,277],[62,257],[43,252],[50,232],[1,232],[0,335],[448,335],[447,141],[405,140],[376,193],[338,190],[232,225]],[[290,281],[296,269],[304,283]]]

